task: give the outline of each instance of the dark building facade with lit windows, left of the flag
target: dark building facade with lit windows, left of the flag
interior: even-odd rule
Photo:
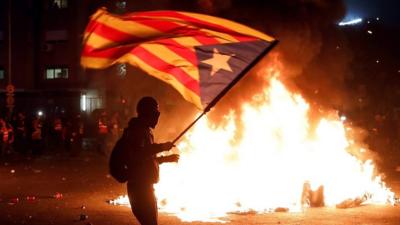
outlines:
[[[111,3],[113,3],[111,1]],[[48,114],[87,112],[106,102],[101,72],[80,66],[81,42],[90,15],[104,2],[0,1],[0,111]],[[111,4],[114,5],[114,4]],[[9,101],[7,86],[15,91]]]

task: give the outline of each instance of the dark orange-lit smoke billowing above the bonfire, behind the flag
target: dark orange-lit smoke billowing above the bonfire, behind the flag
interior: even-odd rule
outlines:
[[[343,1],[333,0],[170,0],[169,7],[231,19],[276,37],[278,46],[261,62],[262,69],[278,57],[282,79],[300,92],[318,112],[348,108],[346,76],[351,74],[351,53],[336,26],[345,15]],[[211,117],[221,121],[265,85],[253,69],[217,104]]]

